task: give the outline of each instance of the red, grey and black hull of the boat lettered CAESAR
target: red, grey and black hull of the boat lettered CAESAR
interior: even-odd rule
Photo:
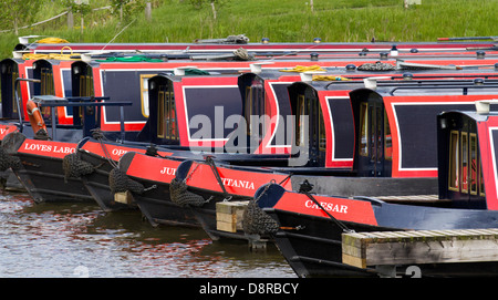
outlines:
[[[258,192],[260,193],[260,190]],[[299,277],[371,277],[375,268],[362,269],[342,262],[342,234],[393,230],[444,230],[498,228],[498,211],[455,209],[425,205],[388,204],[373,198],[322,198],[313,195],[322,207],[331,203],[347,206],[350,216],[332,217],[311,204],[303,194],[284,192],[281,187],[267,192],[260,206],[276,219],[280,230],[272,238]],[[287,197],[300,195],[284,205]],[[273,204],[273,205],[271,205]],[[331,210],[332,211],[332,210]],[[345,211],[345,209],[344,209]],[[398,276],[406,276],[408,267],[396,266]],[[424,277],[496,276],[497,262],[426,263],[417,265]]]

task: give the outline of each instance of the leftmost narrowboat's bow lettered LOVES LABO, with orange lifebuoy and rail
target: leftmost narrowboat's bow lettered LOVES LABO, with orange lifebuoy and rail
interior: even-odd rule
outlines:
[[[22,131],[15,131],[6,135],[2,141],[3,151],[13,161],[11,169],[19,182],[34,199],[34,201],[60,201],[60,200],[93,200],[81,180],[73,179],[71,174],[64,174],[63,162],[77,164],[77,172],[89,172],[98,166],[90,166],[80,163],[77,157],[65,162],[64,158],[75,153],[76,143],[84,136],[92,134],[100,123],[100,106],[131,105],[129,102],[105,102],[98,97],[56,97],[52,95],[34,96],[31,100],[41,111],[49,110],[44,117],[40,113],[34,113],[35,123],[41,126],[40,132],[44,135],[29,137]],[[73,123],[59,124],[54,116],[60,106],[73,108]],[[122,110],[123,111],[123,110]],[[30,116],[33,117],[33,116]],[[44,124],[43,118],[46,120]],[[43,123],[37,123],[37,122]],[[124,136],[124,122],[122,118],[121,136]],[[105,137],[105,133],[103,134]],[[62,142],[64,141],[64,142]],[[64,184],[68,182],[68,184]]]

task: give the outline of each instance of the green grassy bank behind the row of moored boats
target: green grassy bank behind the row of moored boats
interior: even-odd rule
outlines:
[[[403,8],[403,0],[225,0],[216,8],[200,9],[188,0],[157,0],[153,21],[143,14],[123,22],[108,11],[85,17],[83,33],[68,29],[65,17],[43,25],[20,30],[19,35],[39,34],[64,38],[70,42],[191,42],[195,39],[246,34],[252,42],[270,38],[273,42],[435,41],[440,37],[498,35],[498,0],[422,0],[422,6]],[[92,0],[93,8],[107,4]],[[39,20],[64,10],[52,1],[38,12]],[[129,24],[129,25],[128,25]],[[128,25],[118,37],[116,34]],[[17,43],[13,33],[0,33],[0,55],[10,56]]]

